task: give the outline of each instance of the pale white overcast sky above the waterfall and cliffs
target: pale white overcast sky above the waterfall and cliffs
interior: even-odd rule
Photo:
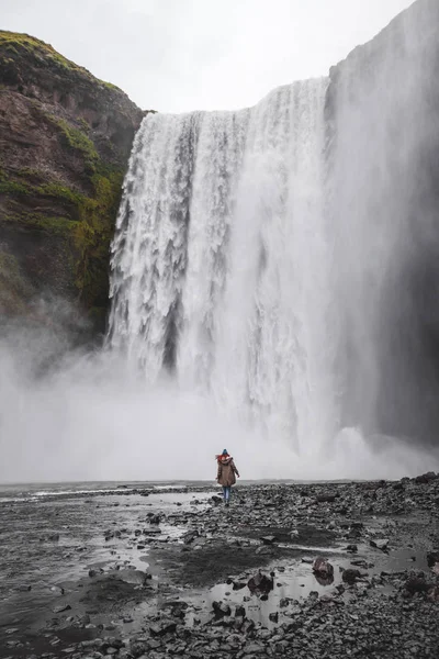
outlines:
[[[143,109],[234,110],[326,75],[413,0],[0,0],[27,32]]]

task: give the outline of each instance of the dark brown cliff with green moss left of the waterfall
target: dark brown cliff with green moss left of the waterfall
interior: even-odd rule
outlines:
[[[50,293],[102,326],[109,246],[144,112],[52,46],[0,32],[0,313]]]

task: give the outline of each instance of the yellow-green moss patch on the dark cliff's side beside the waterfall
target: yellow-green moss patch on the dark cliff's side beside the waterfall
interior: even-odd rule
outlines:
[[[124,171],[105,165],[93,147],[93,143],[79,130],[61,124],[63,133],[69,133],[69,148],[78,150],[83,158],[90,194],[83,194],[59,181],[35,185],[38,172],[19,170],[8,172],[0,169],[0,197],[11,202],[12,212],[2,220],[29,230],[45,231],[63,237],[71,258],[66,267],[72,268],[77,297],[86,308],[106,305],[110,242],[113,235]],[[41,176],[41,175],[40,175]],[[48,216],[40,212],[38,200],[55,202],[64,210],[64,216]],[[15,203],[22,204],[16,210]],[[24,210],[23,204],[36,206]],[[101,314],[102,315],[102,314]]]

